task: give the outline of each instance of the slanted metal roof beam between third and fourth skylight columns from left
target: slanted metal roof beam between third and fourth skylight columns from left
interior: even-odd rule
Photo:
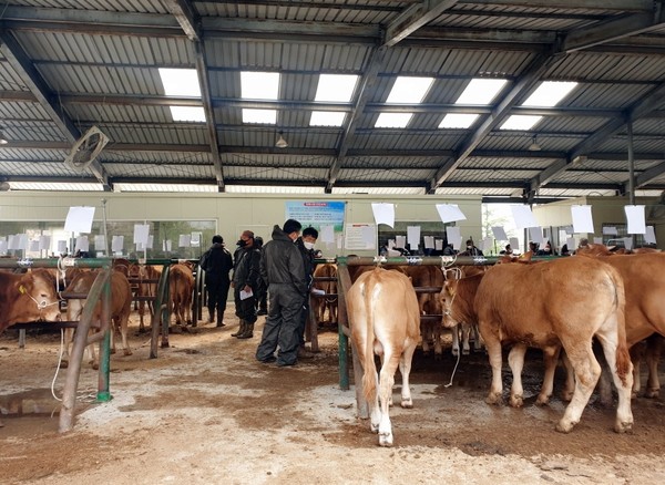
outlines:
[[[332,186],[337,180],[337,175],[339,175],[339,171],[341,168],[341,164],[344,163],[344,158],[346,157],[347,151],[350,147],[351,140],[354,138],[354,133],[356,132],[356,127],[358,126],[358,121],[365,111],[365,105],[371,97],[374,84],[377,81],[377,74],[379,69],[383,64],[383,58],[386,55],[387,48],[380,47],[377,48],[369,60],[369,64],[362,79],[360,80],[360,87],[356,94],[356,107],[351,112],[351,115],[348,116],[349,121],[347,122],[347,126],[341,136],[341,141],[339,143],[339,151],[337,153],[337,158],[330,166],[330,174],[328,175],[328,182],[326,184],[326,192],[332,192]]]

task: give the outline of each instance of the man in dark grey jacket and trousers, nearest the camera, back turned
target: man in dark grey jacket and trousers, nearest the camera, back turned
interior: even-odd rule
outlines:
[[[273,239],[263,248],[260,275],[268,283],[268,317],[256,359],[277,365],[294,365],[298,360],[298,327],[307,295],[303,256],[294,244],[303,226],[288,219],[273,228]],[[277,358],[275,350],[279,347]]]

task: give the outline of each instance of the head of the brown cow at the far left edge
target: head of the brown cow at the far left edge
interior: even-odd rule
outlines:
[[[61,319],[55,277],[48,270],[40,268],[27,272],[14,283],[14,289],[17,302],[21,301],[20,320],[59,321]]]

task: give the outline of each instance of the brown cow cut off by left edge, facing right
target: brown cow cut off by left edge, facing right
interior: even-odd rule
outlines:
[[[23,275],[0,271],[0,332],[14,323],[60,321],[55,279],[45,269]]]

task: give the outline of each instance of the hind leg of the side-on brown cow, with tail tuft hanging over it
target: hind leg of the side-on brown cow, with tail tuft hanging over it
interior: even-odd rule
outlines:
[[[620,347],[616,327],[614,331],[612,326],[601,328],[596,337],[603,345],[605,360],[612,371],[612,379],[616,386],[618,395],[618,405],[616,406],[616,420],[614,431],[624,433],[633,427],[633,412],[631,411],[631,391],[633,389],[633,363],[631,355],[625,347]]]

